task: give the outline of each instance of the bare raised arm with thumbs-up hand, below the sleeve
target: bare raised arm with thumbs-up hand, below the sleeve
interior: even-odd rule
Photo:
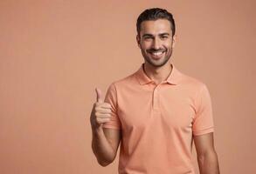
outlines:
[[[93,132],[92,149],[97,161],[107,166],[114,161],[121,139],[121,130],[103,128],[110,121],[111,104],[103,102],[101,91],[96,89],[97,102],[93,104],[90,122]]]

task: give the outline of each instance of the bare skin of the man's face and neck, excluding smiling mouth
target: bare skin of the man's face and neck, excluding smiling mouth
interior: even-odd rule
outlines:
[[[176,35],[172,37],[170,22],[166,19],[143,21],[136,41],[145,60],[144,71],[146,75],[153,79],[156,84],[160,84],[169,77],[172,70],[170,57],[176,43]],[[163,50],[163,56],[156,60],[151,54],[154,50]]]

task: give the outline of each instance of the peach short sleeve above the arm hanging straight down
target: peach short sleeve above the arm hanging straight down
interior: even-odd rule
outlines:
[[[205,84],[197,94],[196,115],[193,119],[192,131],[194,136],[214,131],[211,96]]]

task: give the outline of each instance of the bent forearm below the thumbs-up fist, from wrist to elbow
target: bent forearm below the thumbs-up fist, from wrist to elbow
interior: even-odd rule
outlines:
[[[114,150],[108,143],[102,128],[94,130],[92,148],[93,153],[97,157],[98,163],[102,166],[112,163],[114,159]]]

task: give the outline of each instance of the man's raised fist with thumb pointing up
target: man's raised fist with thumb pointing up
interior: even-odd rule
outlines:
[[[93,129],[98,129],[103,123],[110,121],[111,105],[104,103],[101,90],[96,88],[96,102],[93,104],[91,112],[91,125]]]

